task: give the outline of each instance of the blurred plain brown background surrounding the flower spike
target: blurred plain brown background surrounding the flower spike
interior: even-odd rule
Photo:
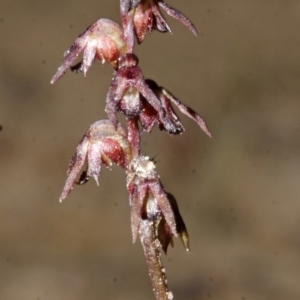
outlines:
[[[195,38],[167,17],[137,49],[146,77],[207,121],[177,137],[155,129],[157,161],[189,230],[163,256],[175,299],[300,299],[300,2],[169,0]],[[112,71],[49,81],[95,20],[118,1],[1,1],[0,299],[154,299],[140,243],[131,243],[122,170],[58,202],[69,159],[105,118]]]

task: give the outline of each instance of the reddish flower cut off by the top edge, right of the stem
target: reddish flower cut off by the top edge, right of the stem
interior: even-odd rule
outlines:
[[[143,0],[139,1],[139,4],[135,4],[135,6],[133,23],[138,43],[141,43],[144,40],[147,32],[151,33],[153,30],[158,30],[160,32],[169,31],[172,33],[171,28],[160,11],[160,8],[162,8],[168,15],[185,25],[194,35],[197,35],[197,30],[192,22],[178,10],[170,7],[162,0]]]

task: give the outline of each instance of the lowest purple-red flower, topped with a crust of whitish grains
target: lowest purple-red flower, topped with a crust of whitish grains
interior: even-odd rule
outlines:
[[[154,163],[147,156],[135,157],[127,169],[132,239],[135,242],[142,220],[153,221],[162,249],[167,252],[172,237],[178,236],[189,251],[188,233],[175,198],[165,192]]]

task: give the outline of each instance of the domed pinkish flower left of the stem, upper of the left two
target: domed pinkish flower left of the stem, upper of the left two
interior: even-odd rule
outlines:
[[[71,67],[81,52],[83,52],[82,62]],[[51,83],[61,78],[70,67],[73,71],[83,72],[86,76],[95,58],[102,63],[107,61],[116,68],[119,57],[124,53],[126,44],[120,25],[108,19],[100,19],[88,27],[65,52],[64,61]]]

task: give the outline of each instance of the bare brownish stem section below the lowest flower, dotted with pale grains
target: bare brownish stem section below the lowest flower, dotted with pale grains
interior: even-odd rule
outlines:
[[[154,221],[142,220],[139,235],[146,257],[155,299],[172,300],[173,294],[168,289],[165,269],[160,259],[160,242],[157,239]]]

